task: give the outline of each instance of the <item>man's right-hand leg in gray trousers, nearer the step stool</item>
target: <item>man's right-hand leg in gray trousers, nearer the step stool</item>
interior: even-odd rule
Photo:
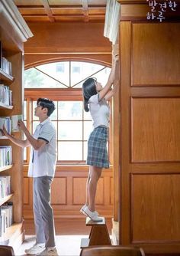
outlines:
[[[37,197],[40,214],[42,216],[43,231],[46,238],[46,248],[55,247],[55,228],[53,220],[53,208],[50,205],[50,185],[53,177],[37,177]]]

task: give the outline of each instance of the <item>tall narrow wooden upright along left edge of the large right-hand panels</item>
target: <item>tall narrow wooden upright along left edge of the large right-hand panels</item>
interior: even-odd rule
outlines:
[[[121,56],[121,224],[120,244],[130,244],[130,75],[131,75],[131,23],[120,25]]]

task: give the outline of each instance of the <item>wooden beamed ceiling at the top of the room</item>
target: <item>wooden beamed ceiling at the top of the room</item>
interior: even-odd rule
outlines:
[[[27,22],[104,22],[107,0],[14,0]]]

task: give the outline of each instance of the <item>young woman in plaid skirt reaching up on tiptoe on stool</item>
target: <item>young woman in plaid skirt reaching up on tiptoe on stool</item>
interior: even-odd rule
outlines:
[[[94,222],[102,221],[102,218],[98,217],[98,212],[95,211],[95,194],[102,169],[109,168],[107,142],[110,110],[107,101],[114,95],[114,89],[111,90],[111,86],[115,79],[117,61],[118,56],[114,57],[111,73],[104,87],[95,78],[88,78],[82,84],[84,109],[91,113],[94,130],[88,138],[89,172],[86,182],[86,203],[80,212]]]

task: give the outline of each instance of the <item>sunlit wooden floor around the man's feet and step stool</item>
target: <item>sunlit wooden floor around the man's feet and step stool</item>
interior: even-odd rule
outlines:
[[[111,219],[107,220],[109,235],[111,235]],[[85,226],[85,218],[55,220],[56,249],[59,256],[79,256],[82,238],[88,238],[91,227]],[[35,243],[34,221],[25,220],[25,240],[16,256],[27,256],[24,250]]]

